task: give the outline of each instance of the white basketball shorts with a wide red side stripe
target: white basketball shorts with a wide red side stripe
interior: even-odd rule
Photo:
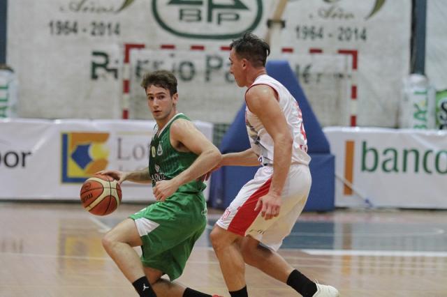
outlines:
[[[258,169],[254,178],[240,189],[216,224],[234,234],[251,236],[268,248],[278,250],[305,207],[312,178],[307,165],[291,165],[282,192],[279,215],[265,220],[261,216],[261,209],[255,211],[254,208],[258,199],[268,193],[272,174],[272,166]]]

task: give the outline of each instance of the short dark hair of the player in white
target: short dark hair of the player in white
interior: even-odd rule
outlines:
[[[235,49],[238,57],[247,59],[254,67],[265,66],[267,56],[270,54],[270,45],[258,36],[246,32],[244,35],[230,43],[230,49]]]

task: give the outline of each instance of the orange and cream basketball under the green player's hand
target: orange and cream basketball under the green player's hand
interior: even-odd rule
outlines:
[[[82,184],[81,202],[94,215],[108,215],[121,203],[121,186],[110,176],[96,174]]]

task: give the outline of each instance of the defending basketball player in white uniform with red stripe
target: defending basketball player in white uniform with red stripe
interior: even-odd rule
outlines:
[[[220,166],[262,167],[211,232],[228,291],[232,297],[248,296],[247,263],[302,296],[339,296],[337,289],[312,282],[277,253],[306,204],[312,180],[300,107],[281,83],[267,75],[268,43],[245,33],[230,49],[230,72],[238,86],[248,88],[245,121],[251,148],[223,155]]]

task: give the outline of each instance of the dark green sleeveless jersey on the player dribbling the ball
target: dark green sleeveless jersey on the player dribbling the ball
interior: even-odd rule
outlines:
[[[149,153],[149,174],[152,178],[152,186],[156,181],[170,180],[184,172],[198,157],[195,153],[177,151],[170,144],[170,125],[177,119],[191,121],[184,114],[176,114],[161,131],[156,128],[152,137]],[[205,183],[201,181],[191,181],[181,185],[177,192],[196,193],[203,191],[205,187]]]

